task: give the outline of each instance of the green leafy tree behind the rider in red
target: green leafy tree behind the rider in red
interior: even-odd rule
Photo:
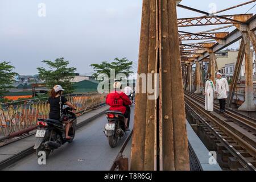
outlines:
[[[96,71],[96,73],[94,73],[92,76],[97,79],[102,73],[108,75],[110,78],[111,69],[114,70],[115,75],[118,73],[123,73],[128,77],[130,73],[133,73],[130,71],[132,64],[133,61],[129,61],[126,59],[126,57],[124,57],[122,59],[115,58],[112,63],[103,61],[101,64],[91,64],[90,66],[93,67],[94,71]]]

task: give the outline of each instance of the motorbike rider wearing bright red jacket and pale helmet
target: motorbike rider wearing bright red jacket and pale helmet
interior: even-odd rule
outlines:
[[[121,90],[121,82],[114,82],[114,91],[109,93],[106,97],[106,104],[110,106],[109,110],[116,110],[120,111],[125,115],[125,126],[127,128],[127,122],[130,118],[130,105],[131,101],[128,96],[126,96],[125,93],[123,93]]]

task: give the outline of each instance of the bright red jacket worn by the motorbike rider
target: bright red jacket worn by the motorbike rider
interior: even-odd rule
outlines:
[[[106,97],[106,104],[110,106],[109,110],[117,110],[125,114],[126,106],[131,105],[131,101],[125,93],[113,91]]]

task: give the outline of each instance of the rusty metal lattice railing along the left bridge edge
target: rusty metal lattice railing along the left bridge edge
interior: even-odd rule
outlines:
[[[86,110],[104,104],[106,94],[70,94],[64,97],[77,108],[76,115],[80,116]],[[47,101],[48,97],[0,103],[0,139],[34,130],[38,118],[48,118]]]

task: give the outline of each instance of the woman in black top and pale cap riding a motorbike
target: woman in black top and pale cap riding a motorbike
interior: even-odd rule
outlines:
[[[68,105],[71,109],[76,110],[76,108],[68,102],[65,97],[62,97],[64,89],[60,85],[55,85],[50,92],[50,96],[48,99],[48,103],[50,104],[50,111],[49,111],[49,119],[55,119],[60,121],[60,113],[63,114],[63,105]],[[61,102],[61,107],[60,107]],[[61,110],[60,110],[61,108]],[[69,128],[71,127],[69,121],[63,121],[65,123],[65,138],[67,140],[71,139],[68,136]]]

